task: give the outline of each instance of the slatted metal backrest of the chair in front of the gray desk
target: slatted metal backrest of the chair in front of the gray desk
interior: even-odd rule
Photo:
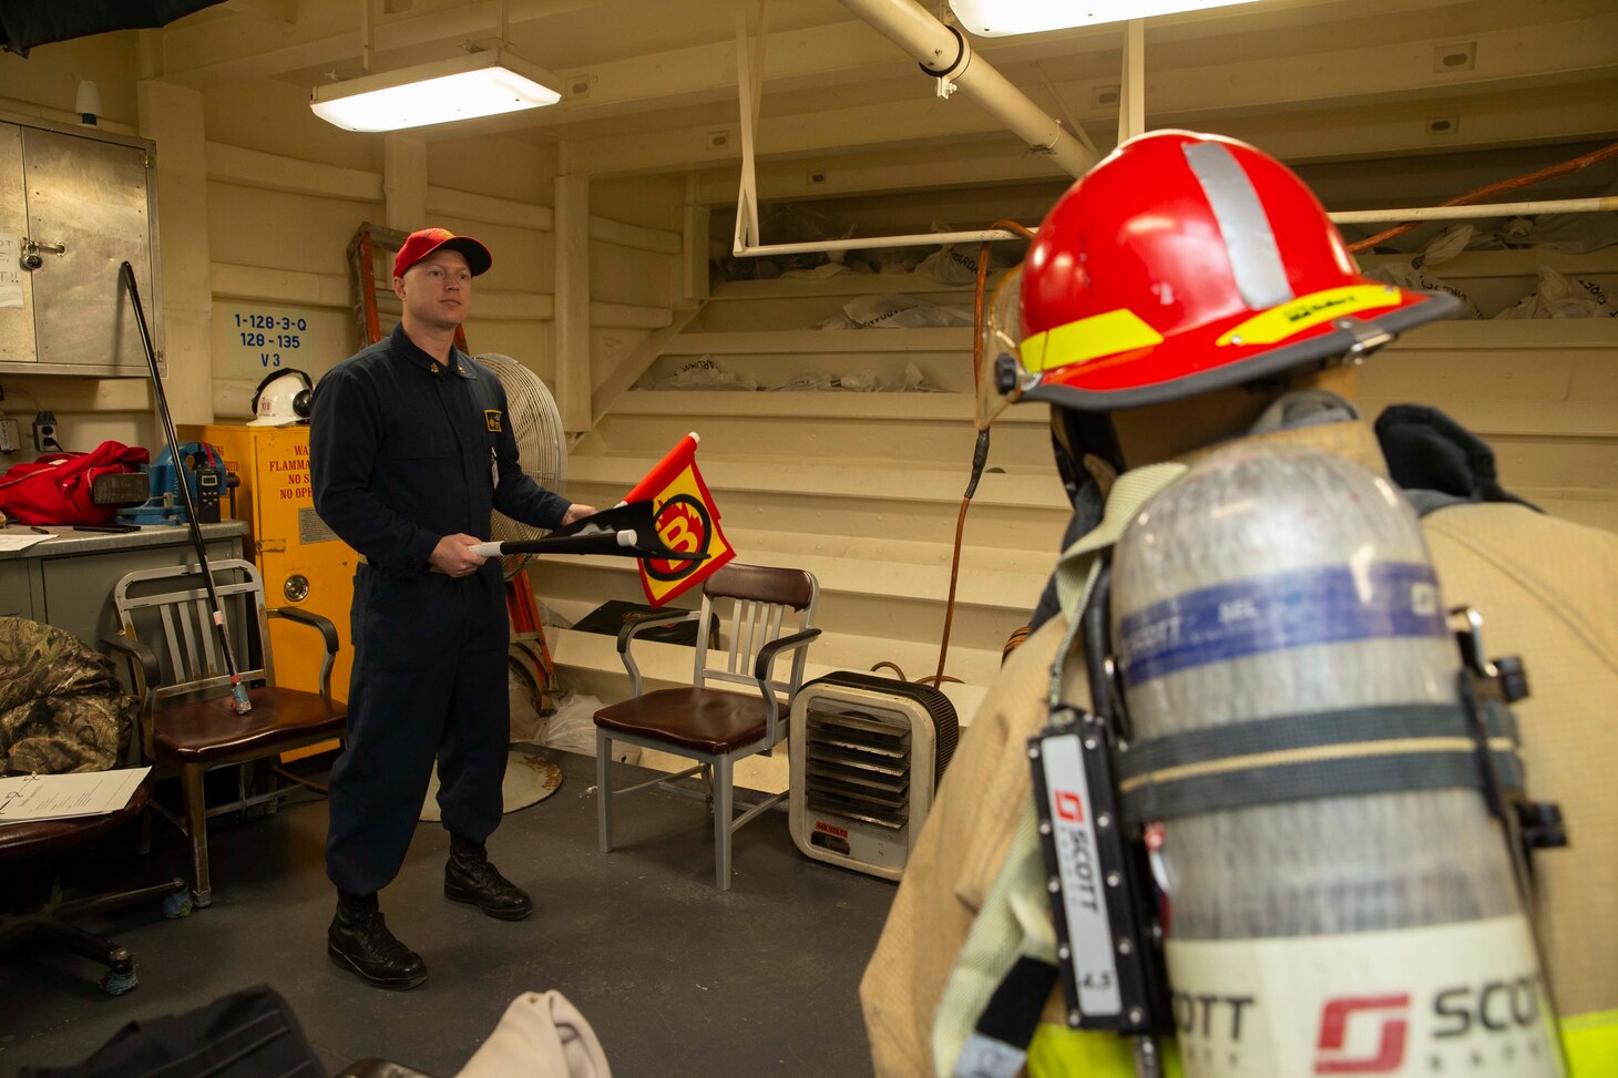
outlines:
[[[210,563],[214,591],[225,612],[225,634],[236,672],[248,681],[273,683],[264,581],[252,562]],[[154,702],[175,696],[207,696],[230,688],[230,672],[214,630],[214,604],[201,565],[136,570],[113,588],[120,631],[157,656],[159,685],[142,685]]]

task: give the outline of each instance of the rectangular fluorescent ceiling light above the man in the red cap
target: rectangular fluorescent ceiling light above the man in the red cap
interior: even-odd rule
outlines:
[[[557,86],[561,79],[550,71],[508,49],[489,49],[317,86],[309,107],[349,131],[398,131],[555,105]]]

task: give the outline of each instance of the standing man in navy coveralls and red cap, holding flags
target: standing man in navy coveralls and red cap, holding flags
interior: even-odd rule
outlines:
[[[309,421],[314,507],[361,554],[348,748],[332,767],[327,953],[371,984],[411,989],[421,955],[382,919],[377,892],[416,830],[434,762],[450,832],[443,893],[492,918],[532,911],[489,861],[500,824],[510,704],[500,563],[472,552],[490,510],[537,528],[592,515],[518,465],[500,380],[455,348],[472,278],[492,257],[443,228],[411,233],[393,262],[393,335],[333,367]]]

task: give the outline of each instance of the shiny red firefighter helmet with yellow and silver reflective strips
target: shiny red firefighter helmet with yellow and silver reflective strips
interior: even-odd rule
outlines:
[[[1082,411],[1354,361],[1455,306],[1366,280],[1293,172],[1191,131],[1129,139],[1068,188],[1013,286],[992,392]]]

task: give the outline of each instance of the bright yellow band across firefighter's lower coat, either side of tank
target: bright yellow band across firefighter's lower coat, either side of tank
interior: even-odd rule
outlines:
[[[1600,1010],[1561,1020],[1561,1047],[1568,1078],[1618,1075],[1618,1010]],[[1183,1078],[1180,1052],[1162,1044],[1165,1078]],[[1068,1029],[1042,1021],[1027,1049],[1029,1078],[1134,1078],[1134,1054],[1116,1033]]]

